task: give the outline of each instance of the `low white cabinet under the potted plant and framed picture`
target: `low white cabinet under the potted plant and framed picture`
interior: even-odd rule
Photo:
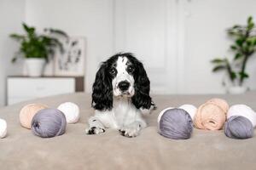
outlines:
[[[83,91],[78,77],[8,77],[8,105],[41,97]]]

